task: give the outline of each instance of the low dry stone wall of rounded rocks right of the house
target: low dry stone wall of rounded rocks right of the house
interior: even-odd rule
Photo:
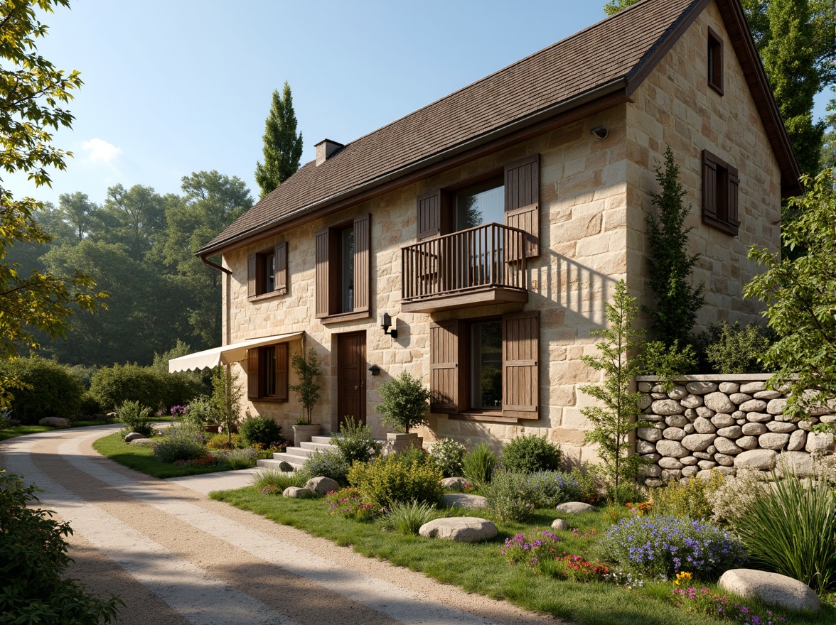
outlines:
[[[647,427],[636,430],[636,452],[645,484],[688,480],[718,471],[735,475],[744,467],[771,470],[782,455],[798,470],[812,469],[813,453],[830,453],[833,434],[812,432],[836,420],[820,407],[808,420],[785,416],[787,396],[767,389],[767,375],[687,376],[665,392],[658,379],[637,378],[639,407]]]

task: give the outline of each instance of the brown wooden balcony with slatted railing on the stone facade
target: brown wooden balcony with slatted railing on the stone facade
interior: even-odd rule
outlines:
[[[402,247],[405,313],[528,302],[526,233],[486,224]]]

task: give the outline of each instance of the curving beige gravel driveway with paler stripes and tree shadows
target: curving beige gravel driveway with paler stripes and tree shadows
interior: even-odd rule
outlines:
[[[118,426],[0,443],[0,464],[69,521],[71,569],[125,602],[120,623],[340,625],[555,622],[206,498],[247,485],[229,472],[155,480],[97,454]]]

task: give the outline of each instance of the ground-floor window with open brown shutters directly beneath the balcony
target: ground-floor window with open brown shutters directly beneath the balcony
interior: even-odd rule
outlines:
[[[539,313],[431,324],[431,409],[538,419]]]

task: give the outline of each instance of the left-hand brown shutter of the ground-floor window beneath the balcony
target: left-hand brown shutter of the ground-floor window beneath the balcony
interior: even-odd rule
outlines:
[[[459,409],[458,322],[430,324],[430,410],[456,413]]]

